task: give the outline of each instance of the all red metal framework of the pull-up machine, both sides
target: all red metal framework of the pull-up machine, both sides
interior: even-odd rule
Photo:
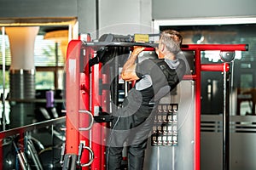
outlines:
[[[79,74],[79,56],[80,48],[82,48],[81,41],[71,41],[67,48],[67,141],[66,148],[67,153],[77,154],[79,146],[79,122],[86,122],[86,119],[79,114],[79,90],[82,90],[82,94],[87,94],[84,96],[83,103],[84,108],[89,109],[88,104],[90,103],[90,110],[93,115],[98,114],[99,107],[102,106],[104,111],[108,111],[108,105],[106,102],[109,100],[106,98],[108,93],[102,92],[99,94],[99,81],[108,82],[107,75],[101,74],[102,65],[94,65],[91,71],[91,81],[88,76],[89,72],[85,74],[85,78],[81,77]],[[84,47],[83,47],[84,48]],[[151,49],[150,49],[151,50]],[[183,51],[195,51],[195,74],[190,76],[184,76],[184,79],[195,80],[195,170],[200,170],[200,139],[201,139],[201,71],[229,71],[229,65],[226,64],[214,64],[214,65],[203,65],[201,64],[201,51],[205,50],[219,50],[219,51],[246,51],[246,44],[189,44],[183,45]],[[88,51],[88,49],[87,49]],[[89,54],[94,57],[92,49],[89,50]],[[87,60],[88,58],[85,57]],[[73,60],[70,62],[70,60]],[[76,62],[76,67],[70,65],[72,62]],[[85,69],[89,71],[89,69]],[[86,72],[85,71],[85,72]],[[80,80],[81,81],[78,81]],[[91,84],[89,83],[91,82]],[[86,84],[86,85],[85,85]],[[90,87],[89,87],[90,86]],[[82,87],[82,88],[79,88]],[[87,88],[83,88],[87,87]],[[91,88],[91,98],[88,94]],[[106,100],[104,100],[106,99]],[[95,154],[95,160],[91,164],[91,169],[103,170],[105,168],[104,162],[104,142],[105,142],[105,129],[106,124],[95,123],[91,130],[91,148]],[[87,134],[85,135],[87,138]],[[89,142],[88,142],[89,143]],[[86,157],[87,156],[87,157]],[[88,160],[88,155],[84,159]]]

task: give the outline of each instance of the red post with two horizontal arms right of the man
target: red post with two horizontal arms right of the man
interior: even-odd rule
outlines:
[[[247,44],[189,44],[183,45],[183,51],[195,51],[195,74],[185,79],[195,80],[195,170],[200,170],[200,140],[201,140],[201,71],[228,71],[229,65],[202,65],[201,51],[246,51]]]

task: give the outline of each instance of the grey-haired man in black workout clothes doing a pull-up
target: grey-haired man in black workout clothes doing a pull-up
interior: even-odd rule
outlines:
[[[137,81],[129,91],[122,108],[113,113],[112,131],[109,134],[107,169],[121,168],[124,143],[128,150],[128,169],[142,170],[148,134],[152,128],[154,112],[160,99],[181,81],[186,71],[180,45],[183,37],[174,30],[160,34],[158,59],[144,59],[136,64],[143,47],[135,47],[125,62],[121,77],[125,81]]]

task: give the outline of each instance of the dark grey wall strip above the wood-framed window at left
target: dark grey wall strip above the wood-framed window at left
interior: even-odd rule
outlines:
[[[74,17],[77,0],[0,0],[0,18]]]

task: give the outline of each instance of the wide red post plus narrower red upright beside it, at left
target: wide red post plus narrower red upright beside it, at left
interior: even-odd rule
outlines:
[[[79,127],[88,127],[90,116],[79,111],[90,111],[90,55],[94,53],[91,48],[85,48],[81,53],[82,42],[72,40],[67,48],[66,62],[66,155],[78,155],[79,144],[90,146],[90,132],[79,131]],[[81,59],[83,66],[81,67]],[[90,160],[89,150],[84,150],[81,163]],[[82,167],[83,170],[90,167]]]

